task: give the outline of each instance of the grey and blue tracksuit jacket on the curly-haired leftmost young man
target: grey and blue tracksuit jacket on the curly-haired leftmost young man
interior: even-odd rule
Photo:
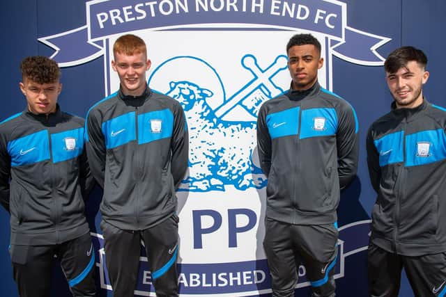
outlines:
[[[57,106],[0,123],[0,202],[10,211],[11,244],[58,244],[89,232],[83,198],[93,182],[84,119]]]

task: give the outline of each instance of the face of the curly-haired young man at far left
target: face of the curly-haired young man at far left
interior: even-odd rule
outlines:
[[[20,83],[20,90],[26,97],[28,110],[31,113],[48,115],[56,111],[57,97],[61,93],[62,84],[59,80],[53,83],[36,83],[25,77]]]

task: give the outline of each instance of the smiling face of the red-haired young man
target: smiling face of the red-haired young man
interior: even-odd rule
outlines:
[[[118,73],[124,95],[139,96],[144,92],[146,71],[151,67],[146,54],[141,51],[134,51],[131,55],[115,52],[112,67]]]

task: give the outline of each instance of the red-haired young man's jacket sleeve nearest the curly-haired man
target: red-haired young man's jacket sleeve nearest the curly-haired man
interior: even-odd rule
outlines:
[[[97,110],[91,110],[88,113],[85,126],[85,147],[89,170],[98,184],[104,188],[106,148],[102,134],[102,118]],[[87,172],[85,173],[88,175]],[[88,187],[86,182],[86,189]]]

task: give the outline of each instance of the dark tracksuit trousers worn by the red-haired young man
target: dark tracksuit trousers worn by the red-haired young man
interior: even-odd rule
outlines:
[[[105,263],[114,297],[133,297],[137,285],[141,241],[144,242],[151,282],[158,297],[178,296],[178,216],[146,230],[121,230],[102,220]]]

